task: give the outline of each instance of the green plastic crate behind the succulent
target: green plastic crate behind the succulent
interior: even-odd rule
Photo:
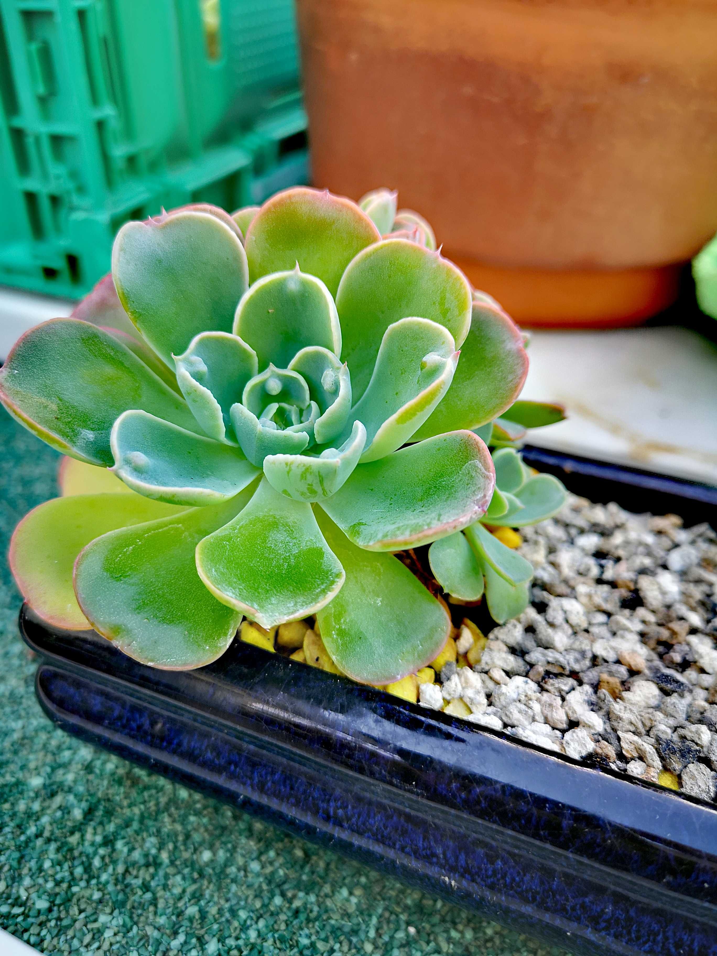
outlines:
[[[0,284],[78,297],[128,219],[306,182],[293,0],[0,0]]]

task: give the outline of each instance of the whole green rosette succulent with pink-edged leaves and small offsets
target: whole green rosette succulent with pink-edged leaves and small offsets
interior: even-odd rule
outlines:
[[[480,597],[485,578],[498,619],[525,606],[530,565],[481,521],[562,504],[511,447],[547,406],[515,402],[523,337],[395,194],[294,188],[233,218],[128,223],[75,315],[21,337],[0,372],[11,414],[99,492],[13,536],[42,618],[181,669],[223,654],[243,616],[316,614],[342,672],[388,684],[451,627],[392,552],[435,542],[447,591]],[[476,429],[496,419],[493,467]]]

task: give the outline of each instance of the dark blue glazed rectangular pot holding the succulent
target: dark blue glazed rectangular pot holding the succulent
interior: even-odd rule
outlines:
[[[717,490],[529,449],[596,501],[714,521]],[[131,661],[23,609],[61,727],[579,953],[717,956],[717,810],[234,641]]]

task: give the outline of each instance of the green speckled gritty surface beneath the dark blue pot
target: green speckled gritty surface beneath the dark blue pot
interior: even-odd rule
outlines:
[[[54,728],[5,554],[58,456],[1,409],[0,442],[0,926],[80,956],[560,956]]]

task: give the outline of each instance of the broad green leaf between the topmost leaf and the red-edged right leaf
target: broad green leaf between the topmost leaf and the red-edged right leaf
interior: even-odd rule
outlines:
[[[337,292],[342,358],[355,401],[368,387],[390,325],[419,315],[444,326],[460,348],[470,327],[470,301],[466,276],[438,252],[405,239],[385,239],[359,252]]]

